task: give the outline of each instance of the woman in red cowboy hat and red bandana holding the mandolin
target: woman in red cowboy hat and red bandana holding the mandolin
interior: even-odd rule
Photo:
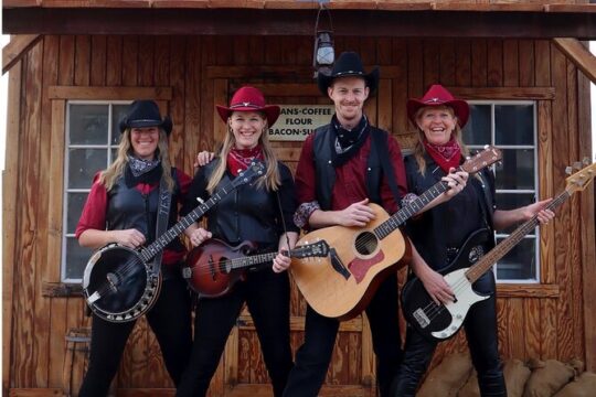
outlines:
[[[267,130],[279,116],[279,106],[265,104],[254,87],[240,88],[228,107],[217,106],[227,133],[216,159],[198,170],[182,214],[207,198],[217,186],[247,169],[252,161],[265,161],[267,171],[256,183],[242,185],[207,214],[206,229],[198,224],[187,229],[193,246],[219,238],[230,246],[255,243],[258,253],[279,253],[273,264],[249,271],[230,293],[200,298],[195,308],[194,344],[189,366],[177,396],[204,396],[223,353],[230,331],[247,303],[260,342],[275,396],[281,396],[292,367],[289,340],[290,259],[280,254],[292,248],[298,228],[290,170],[276,159]]]

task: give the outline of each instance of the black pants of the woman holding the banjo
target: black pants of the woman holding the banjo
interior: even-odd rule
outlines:
[[[156,304],[147,313],[174,385],[184,371],[192,346],[190,294],[181,278],[164,280]],[[89,367],[83,379],[81,397],[105,397],[136,321],[113,323],[95,314],[92,323]]]

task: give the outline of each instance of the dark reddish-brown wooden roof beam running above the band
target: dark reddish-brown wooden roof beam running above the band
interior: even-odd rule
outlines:
[[[596,39],[595,8],[331,9],[336,35]],[[588,11],[586,11],[588,10]],[[311,35],[317,9],[4,8],[4,34]]]

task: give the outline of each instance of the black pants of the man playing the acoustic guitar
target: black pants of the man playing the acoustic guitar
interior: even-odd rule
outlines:
[[[381,396],[389,396],[391,382],[402,360],[397,310],[397,277],[394,273],[381,283],[366,308]],[[284,397],[318,395],[324,383],[338,330],[338,320],[324,318],[310,307],[307,308],[305,343],[296,353],[296,365]]]

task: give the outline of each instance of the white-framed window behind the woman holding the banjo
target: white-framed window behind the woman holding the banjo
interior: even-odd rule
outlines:
[[[74,237],[94,175],[107,168],[120,140],[118,122],[129,101],[76,101],[66,104],[66,144],[61,279],[79,282],[92,254]]]

